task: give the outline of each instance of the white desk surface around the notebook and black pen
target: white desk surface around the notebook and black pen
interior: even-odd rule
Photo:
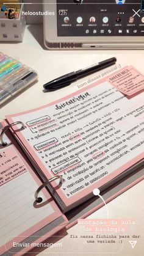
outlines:
[[[133,65],[139,71],[144,73],[143,57],[144,50],[89,50],[89,51],[49,51],[43,49],[42,42],[42,29],[40,25],[33,25],[26,28],[23,43],[1,43],[0,51],[13,58],[20,59],[23,64],[32,67],[38,71],[39,79],[37,84],[25,90],[23,93],[15,97],[12,101],[2,106],[0,109],[0,117],[4,119],[5,115],[13,114],[16,112],[26,111],[27,109],[37,108],[46,103],[62,98],[77,90],[77,84],[81,84],[87,78],[81,81],[74,82],[68,87],[57,90],[55,92],[43,92],[43,84],[51,81],[58,76],[69,73],[70,71],[79,70],[80,68],[87,67],[88,65],[95,64],[110,57],[117,57],[117,65],[124,67],[126,65]],[[40,35],[40,36],[39,36]],[[36,40],[37,38],[37,40]],[[109,68],[110,69],[110,68]],[[99,71],[101,73],[101,71]],[[98,73],[97,73],[98,74]],[[91,75],[93,77],[94,75]],[[135,219],[135,227],[129,232],[130,235],[140,235],[134,249],[128,241],[124,241],[123,247],[119,251],[115,251],[113,245],[111,250],[103,252],[99,251],[100,248],[96,244],[91,244],[91,249],[87,251],[87,244],[80,240],[71,239],[71,234],[80,234],[77,225],[68,230],[68,235],[62,238],[63,252],[57,248],[45,249],[40,252],[40,255],[143,255],[143,241],[142,241],[142,221],[143,221],[143,196],[142,196],[143,182],[140,182],[133,188],[124,192],[117,199],[110,202],[107,207],[109,210],[110,218],[115,219]],[[106,218],[106,209],[103,207],[96,213],[92,214],[89,218]],[[84,233],[84,232],[83,232]],[[81,235],[81,234],[80,234]],[[84,235],[84,234],[83,234]],[[87,235],[87,234],[86,234]],[[132,240],[132,239],[131,239]],[[78,246],[80,250],[73,252],[73,248]],[[95,246],[95,247],[93,247]],[[89,248],[89,247],[88,247]],[[95,248],[95,249],[94,249]],[[93,250],[94,249],[94,250]],[[106,246],[105,246],[106,249]],[[79,253],[82,252],[82,253]],[[36,255],[38,251],[36,252]],[[39,254],[38,254],[39,255]]]

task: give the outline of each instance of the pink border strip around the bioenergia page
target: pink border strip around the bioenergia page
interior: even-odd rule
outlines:
[[[38,111],[38,110],[42,111],[43,108],[47,108],[47,107],[52,106],[54,104],[58,104],[63,100],[68,100],[68,98],[75,97],[77,94],[82,93],[84,91],[87,91],[90,88],[93,88],[93,87],[96,87],[96,86],[101,86],[101,83],[103,83],[103,82],[106,82],[106,79],[101,79],[98,82],[90,84],[90,86],[87,86],[83,89],[80,89],[77,92],[71,93],[67,97],[60,98],[59,100],[56,100],[56,101],[54,101],[52,103],[49,103],[45,106],[41,106],[40,108],[32,109],[30,111],[25,111],[23,113],[9,115],[9,116],[7,116],[7,120],[8,120],[9,123],[13,123],[14,122],[13,117],[18,117],[20,115],[25,115],[25,114],[31,113],[33,111]],[[17,129],[18,129],[17,126],[13,126],[14,133],[15,133],[15,130],[17,130]],[[38,164],[40,169],[43,170],[43,173],[46,175],[46,177],[47,178],[53,177],[53,174],[52,173],[50,174],[48,169],[46,169],[45,165],[41,162],[40,158],[38,158],[38,156],[35,154],[34,149],[31,147],[31,145],[29,145],[29,143],[27,142],[26,138],[23,136],[21,131],[16,131],[15,134],[18,137],[18,139],[20,139],[21,143],[24,145],[24,147],[27,149],[27,151],[30,153],[32,158],[35,159],[35,162]],[[101,180],[96,181],[96,183],[93,183],[93,185],[90,185],[88,188],[85,188],[83,191],[77,192],[76,195],[71,196],[70,198],[67,198],[65,196],[65,194],[63,194],[62,188],[57,188],[57,190],[56,190],[57,194],[59,194],[60,199],[63,200],[66,207],[69,207],[71,204],[83,199],[85,196],[92,193],[93,189],[95,189],[96,187],[99,188],[99,187],[103,186],[104,184],[106,184],[107,182],[109,182],[113,178],[117,177],[119,174],[123,173],[126,169],[128,169],[129,167],[131,167],[135,163],[139,162],[143,158],[144,158],[144,153],[138,154],[137,156],[132,158],[131,161],[128,161],[127,163],[123,164],[123,166],[119,167],[118,169],[115,169],[111,174],[108,174],[106,177],[101,178]],[[55,181],[53,181],[51,184],[54,188],[57,187],[57,183]]]

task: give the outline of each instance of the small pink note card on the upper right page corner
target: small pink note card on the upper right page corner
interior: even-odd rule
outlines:
[[[144,90],[144,75],[132,66],[121,68],[106,78],[120,92],[132,96]]]

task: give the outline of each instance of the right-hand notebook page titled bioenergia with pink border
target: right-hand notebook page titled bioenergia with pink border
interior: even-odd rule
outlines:
[[[128,98],[103,79],[6,117],[41,180],[62,175],[61,184],[55,180],[47,187],[64,213],[92,198],[93,189],[103,191],[143,164],[143,97],[141,92]]]

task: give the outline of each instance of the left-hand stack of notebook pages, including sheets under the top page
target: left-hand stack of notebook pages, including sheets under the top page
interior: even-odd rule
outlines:
[[[2,124],[4,125],[4,123]],[[2,128],[0,123],[0,128]],[[67,218],[44,188],[43,203],[35,202],[35,190],[41,185],[34,169],[22,156],[12,136],[4,136],[7,147],[0,147],[0,254],[24,254],[67,224]],[[21,155],[22,153],[22,155]]]

